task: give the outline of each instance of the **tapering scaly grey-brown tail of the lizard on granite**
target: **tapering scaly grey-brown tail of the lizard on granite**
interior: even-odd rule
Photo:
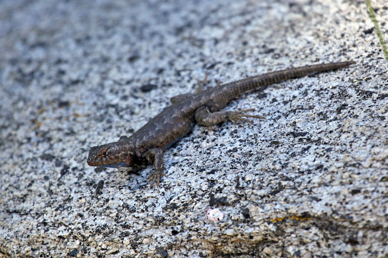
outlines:
[[[302,67],[289,68],[270,72],[267,74],[252,76],[242,80],[238,80],[233,84],[227,83],[224,85],[224,89],[229,91],[228,93],[234,96],[240,95],[246,91],[251,91],[259,87],[268,86],[273,83],[285,81],[291,78],[302,77],[309,74],[335,70],[339,68],[348,67],[351,64],[356,63],[355,61],[343,61],[334,63],[323,63],[306,65]]]

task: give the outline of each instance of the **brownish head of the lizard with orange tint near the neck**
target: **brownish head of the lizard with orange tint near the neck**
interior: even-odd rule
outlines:
[[[88,165],[93,167],[131,167],[133,156],[128,145],[120,141],[111,142],[90,148]]]

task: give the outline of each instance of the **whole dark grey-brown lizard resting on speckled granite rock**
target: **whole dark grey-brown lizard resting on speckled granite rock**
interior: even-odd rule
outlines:
[[[141,167],[154,165],[148,177],[150,188],[156,182],[160,186],[163,172],[163,151],[173,145],[193,127],[195,122],[210,126],[225,121],[252,123],[248,118],[261,116],[245,114],[254,109],[220,111],[226,104],[242,93],[265,89],[274,83],[309,74],[345,68],[355,61],[342,61],[307,65],[251,76],[218,85],[196,94],[181,94],[171,98],[172,105],[148,121],[132,136],[122,136],[116,142],[92,147],[87,164],[98,167]]]

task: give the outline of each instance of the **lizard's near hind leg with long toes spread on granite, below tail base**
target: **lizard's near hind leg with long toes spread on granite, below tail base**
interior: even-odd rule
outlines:
[[[255,109],[244,109],[240,111],[218,111],[211,113],[207,106],[201,106],[195,110],[195,121],[202,125],[210,126],[225,121],[232,121],[233,123],[246,121],[252,123],[252,121],[246,119],[247,117],[264,119],[262,116],[245,115],[244,112],[254,111]]]

